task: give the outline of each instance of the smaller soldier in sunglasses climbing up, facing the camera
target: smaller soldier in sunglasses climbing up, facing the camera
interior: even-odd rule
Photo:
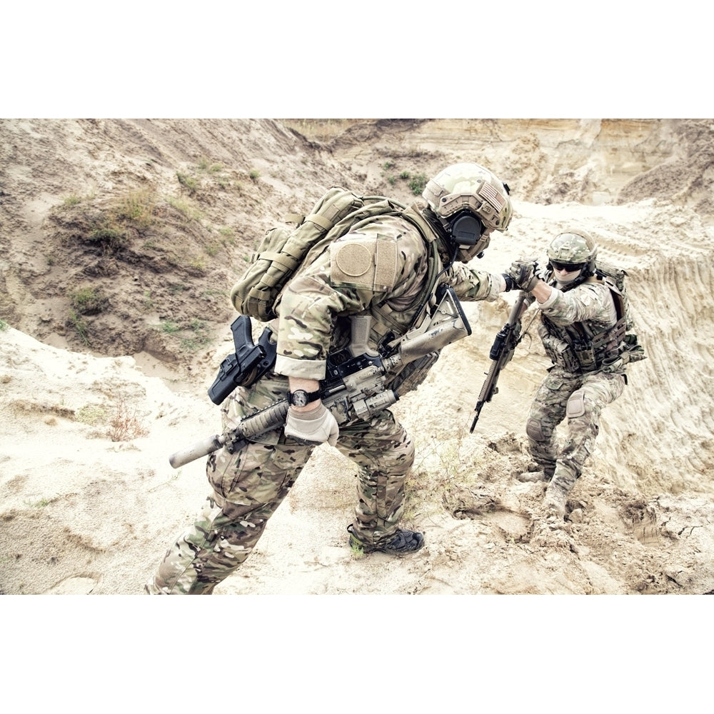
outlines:
[[[535,393],[526,422],[531,456],[540,471],[518,478],[548,482],[545,505],[560,519],[568,493],[593,453],[600,413],[627,383],[621,358],[623,303],[614,283],[595,276],[596,254],[593,238],[573,229],[550,243],[544,279],[529,260],[514,262],[508,271],[540,310],[538,334],[554,365]],[[555,428],[566,418],[568,436],[559,448]]]

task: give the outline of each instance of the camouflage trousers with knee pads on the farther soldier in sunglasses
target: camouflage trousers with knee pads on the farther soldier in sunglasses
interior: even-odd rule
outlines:
[[[526,423],[533,460],[548,476],[572,488],[593,453],[600,413],[625,388],[622,373],[602,371],[576,374],[553,367],[540,383]],[[556,443],[555,428],[568,420],[565,443]]]

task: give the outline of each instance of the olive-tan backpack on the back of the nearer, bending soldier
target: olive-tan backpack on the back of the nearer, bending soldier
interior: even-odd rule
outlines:
[[[261,322],[277,317],[281,293],[298,271],[310,265],[336,238],[375,216],[403,216],[431,246],[433,236],[414,211],[384,196],[358,196],[333,186],[308,216],[286,216],[294,228],[278,226],[266,232],[251,256],[251,265],[231,289],[236,310]],[[429,288],[431,291],[431,287]]]

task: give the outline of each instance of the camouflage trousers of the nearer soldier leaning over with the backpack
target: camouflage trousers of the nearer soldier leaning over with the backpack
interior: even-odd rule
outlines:
[[[251,393],[254,406],[261,408],[284,396],[283,386],[275,380],[261,382],[258,393]],[[241,393],[244,396],[245,391],[236,390],[223,409],[228,421],[246,411],[248,400]],[[213,492],[193,526],[166,551],[146,584],[147,593],[210,595],[248,558],[315,448],[286,438],[282,430],[264,441],[232,455],[223,448],[208,458],[206,474]],[[411,438],[384,410],[369,422],[342,425],[337,448],[358,466],[355,534],[366,543],[393,534],[403,514],[404,482],[414,461]]]

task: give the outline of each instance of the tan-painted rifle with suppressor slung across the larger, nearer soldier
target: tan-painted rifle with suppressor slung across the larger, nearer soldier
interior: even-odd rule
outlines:
[[[389,356],[381,356],[368,347],[370,321],[369,316],[352,318],[351,343],[328,357],[326,376],[320,382],[320,398],[335,415],[338,424],[353,418],[368,419],[398,400],[396,391],[386,388],[388,376],[395,374],[394,371],[390,374],[391,370],[438,354],[441,348],[471,334],[471,326],[456,293],[446,285],[438,286],[436,307],[427,308],[421,326],[408,331],[398,341],[389,343],[390,352],[393,352]],[[235,335],[236,330],[233,333]],[[252,353],[251,347],[252,343],[246,350],[248,354]],[[261,360],[256,358],[256,361]],[[222,367],[223,372],[217,380],[221,388],[231,383],[231,376],[227,373],[229,365],[224,361]],[[236,453],[247,446],[251,438],[281,428],[287,413],[287,399],[276,401],[241,419],[236,428],[177,451],[169,457],[169,463],[178,468],[223,447],[229,453]]]

